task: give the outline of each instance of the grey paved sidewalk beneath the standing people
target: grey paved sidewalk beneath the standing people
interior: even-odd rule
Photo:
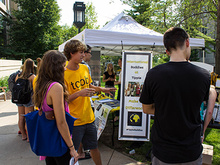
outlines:
[[[0,100],[0,165],[44,165],[30,149],[29,143],[21,140],[18,132],[17,106],[10,100]],[[146,165],[137,162],[99,143],[103,165]],[[94,165],[92,159],[79,161],[80,165]]]

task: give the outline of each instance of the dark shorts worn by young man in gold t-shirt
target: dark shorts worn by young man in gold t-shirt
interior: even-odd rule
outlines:
[[[79,149],[80,142],[82,142],[84,150],[96,149],[98,141],[95,123],[74,126],[72,139],[76,150]]]

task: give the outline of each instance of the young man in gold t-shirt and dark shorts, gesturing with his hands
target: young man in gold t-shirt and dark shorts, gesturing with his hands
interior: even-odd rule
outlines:
[[[86,46],[79,40],[70,40],[64,47],[64,54],[69,61],[64,73],[64,81],[69,96],[70,114],[78,118],[74,123],[73,143],[78,150],[80,143],[85,150],[90,150],[96,165],[101,165],[98,150],[97,131],[94,124],[95,116],[91,108],[90,97],[95,92],[110,93],[116,88],[102,88],[93,86],[88,67],[81,64]]]

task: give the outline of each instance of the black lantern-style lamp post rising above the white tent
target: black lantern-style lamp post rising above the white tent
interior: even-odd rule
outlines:
[[[78,28],[78,33],[80,33],[80,28],[82,28],[86,23],[85,9],[86,6],[83,2],[75,2],[73,5],[73,12],[74,12],[73,24]]]

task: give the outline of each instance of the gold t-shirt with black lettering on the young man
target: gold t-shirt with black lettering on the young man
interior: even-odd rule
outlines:
[[[64,82],[70,95],[82,89],[89,88],[92,79],[88,67],[84,64],[79,64],[79,69],[77,70],[66,68],[64,72]],[[69,102],[69,109],[70,114],[78,118],[74,123],[75,126],[89,124],[95,120],[90,97],[79,96]]]

